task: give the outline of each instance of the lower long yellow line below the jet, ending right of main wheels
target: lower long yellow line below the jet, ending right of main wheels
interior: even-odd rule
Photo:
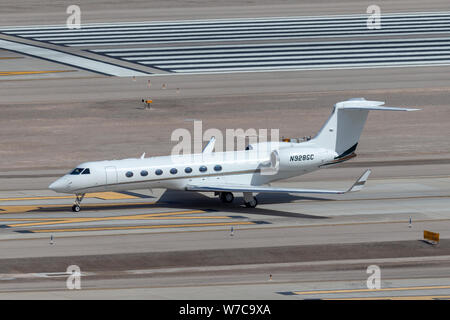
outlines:
[[[133,229],[159,229],[159,228],[186,228],[186,227],[214,227],[214,226],[236,226],[255,224],[252,221],[242,222],[218,222],[218,223],[187,223],[187,224],[161,224],[152,226],[128,226],[128,227],[92,227],[92,228],[73,228],[73,229],[46,229],[33,230],[31,233],[44,232],[76,232],[76,231],[108,231],[108,230],[133,230]]]

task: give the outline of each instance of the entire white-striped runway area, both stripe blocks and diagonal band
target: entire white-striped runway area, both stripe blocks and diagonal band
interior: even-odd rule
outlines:
[[[368,15],[337,15],[105,23],[82,29],[12,27],[0,29],[10,39],[1,40],[0,47],[119,77],[449,65],[450,13],[383,14],[377,29],[368,28],[367,19]],[[11,41],[23,39],[39,47]],[[40,48],[46,44],[55,46]],[[171,45],[164,47],[167,44]],[[94,55],[75,56],[64,47]],[[98,61],[101,56],[114,63]],[[144,69],[125,68],[121,62]]]

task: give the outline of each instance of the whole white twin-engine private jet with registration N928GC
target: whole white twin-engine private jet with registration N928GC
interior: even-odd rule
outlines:
[[[339,102],[328,121],[305,142],[250,144],[246,150],[213,152],[214,138],[202,153],[111,161],[85,162],[53,182],[49,188],[76,195],[72,210],[80,211],[85,193],[145,188],[214,192],[223,202],[243,193],[244,203],[254,208],[254,193],[342,194],[359,191],[370,170],[347,190],[278,188],[270,182],[286,179],[355,157],[356,146],[369,110],[413,111],[382,107],[384,102],[363,98]]]

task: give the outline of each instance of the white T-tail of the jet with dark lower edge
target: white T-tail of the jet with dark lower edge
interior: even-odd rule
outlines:
[[[334,161],[325,165],[340,163],[356,156],[355,150],[370,110],[420,110],[382,107],[382,105],[384,105],[383,101],[368,101],[364,98],[353,98],[335,104],[328,121],[319,133],[310,140],[311,143],[336,152],[337,156]]]

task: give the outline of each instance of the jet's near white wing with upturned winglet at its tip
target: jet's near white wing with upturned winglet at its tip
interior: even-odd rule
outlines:
[[[347,190],[316,190],[316,189],[296,189],[296,188],[277,188],[270,186],[251,186],[239,184],[198,184],[187,185],[186,190],[189,191],[214,191],[214,192],[255,192],[255,193],[319,193],[319,194],[343,194],[347,192],[359,191],[369,177],[371,170],[368,169],[358,180]]]

